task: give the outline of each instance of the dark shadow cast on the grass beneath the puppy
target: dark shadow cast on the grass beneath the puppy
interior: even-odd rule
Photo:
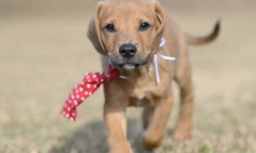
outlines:
[[[129,119],[127,136],[134,152],[147,152],[142,146],[142,125],[140,120]],[[70,137],[59,138],[58,144],[50,153],[99,153],[108,152],[108,142],[104,124],[101,121],[90,122],[74,131]]]

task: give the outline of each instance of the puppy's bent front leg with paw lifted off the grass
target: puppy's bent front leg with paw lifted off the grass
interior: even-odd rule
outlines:
[[[172,94],[164,98],[157,98],[152,120],[143,135],[145,149],[152,150],[161,143],[172,109],[172,98]]]

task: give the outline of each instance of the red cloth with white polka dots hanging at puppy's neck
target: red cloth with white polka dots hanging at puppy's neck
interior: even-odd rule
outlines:
[[[69,120],[76,120],[76,107],[80,105],[84,99],[91,96],[101,84],[108,82],[111,78],[118,77],[120,77],[118,70],[113,69],[111,65],[109,65],[108,72],[106,73],[86,73],[83,81],[74,87],[73,91],[69,94],[61,113]]]

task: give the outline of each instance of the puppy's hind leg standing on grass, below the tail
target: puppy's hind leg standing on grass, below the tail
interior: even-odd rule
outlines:
[[[174,131],[175,140],[184,140],[191,136],[193,116],[193,85],[191,81],[191,64],[188,55],[180,58],[175,80],[180,87],[180,112]]]

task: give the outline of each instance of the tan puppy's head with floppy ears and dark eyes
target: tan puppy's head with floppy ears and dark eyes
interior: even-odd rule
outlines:
[[[90,22],[88,37],[112,64],[134,69],[156,54],[164,23],[163,9],[156,1],[103,1]]]

